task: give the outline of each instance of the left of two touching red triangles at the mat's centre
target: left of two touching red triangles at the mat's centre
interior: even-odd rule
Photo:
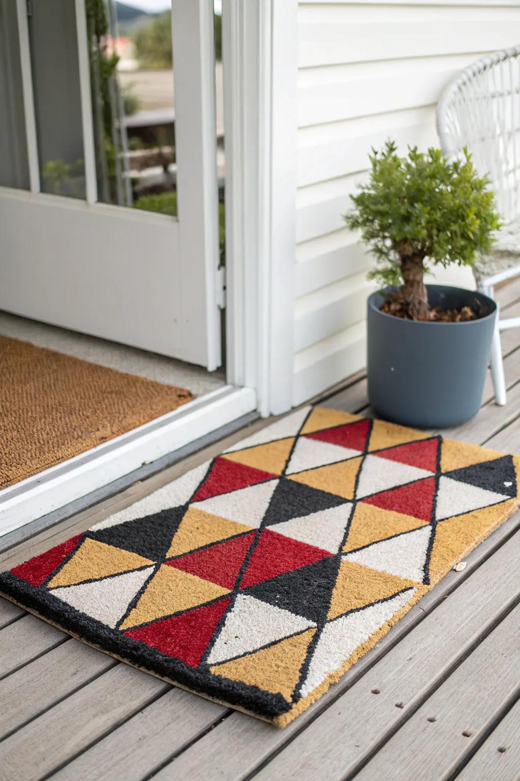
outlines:
[[[255,532],[241,534],[240,537],[215,543],[164,564],[232,590],[254,535]]]

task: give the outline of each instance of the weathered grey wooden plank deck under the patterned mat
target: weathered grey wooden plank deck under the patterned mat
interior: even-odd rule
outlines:
[[[507,316],[520,315],[520,284],[501,291],[501,305]],[[520,330],[505,332],[503,343],[508,405],[493,403],[488,381],[479,415],[443,433],[520,452]],[[363,377],[324,405],[370,414]],[[222,446],[13,547],[0,569],[86,529]],[[0,778],[518,781],[519,526],[520,513],[283,730],[172,688],[0,600]]]

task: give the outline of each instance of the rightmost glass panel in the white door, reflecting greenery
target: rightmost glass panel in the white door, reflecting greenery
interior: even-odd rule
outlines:
[[[171,0],[87,4],[97,198],[177,214]]]

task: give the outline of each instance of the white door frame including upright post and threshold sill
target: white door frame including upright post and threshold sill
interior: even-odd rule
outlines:
[[[1,490],[0,537],[44,515],[51,525],[58,508],[242,415],[292,408],[297,6],[223,0],[228,385]]]

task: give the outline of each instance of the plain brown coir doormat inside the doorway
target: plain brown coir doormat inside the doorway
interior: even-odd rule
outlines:
[[[0,336],[0,488],[171,412],[184,388]]]

